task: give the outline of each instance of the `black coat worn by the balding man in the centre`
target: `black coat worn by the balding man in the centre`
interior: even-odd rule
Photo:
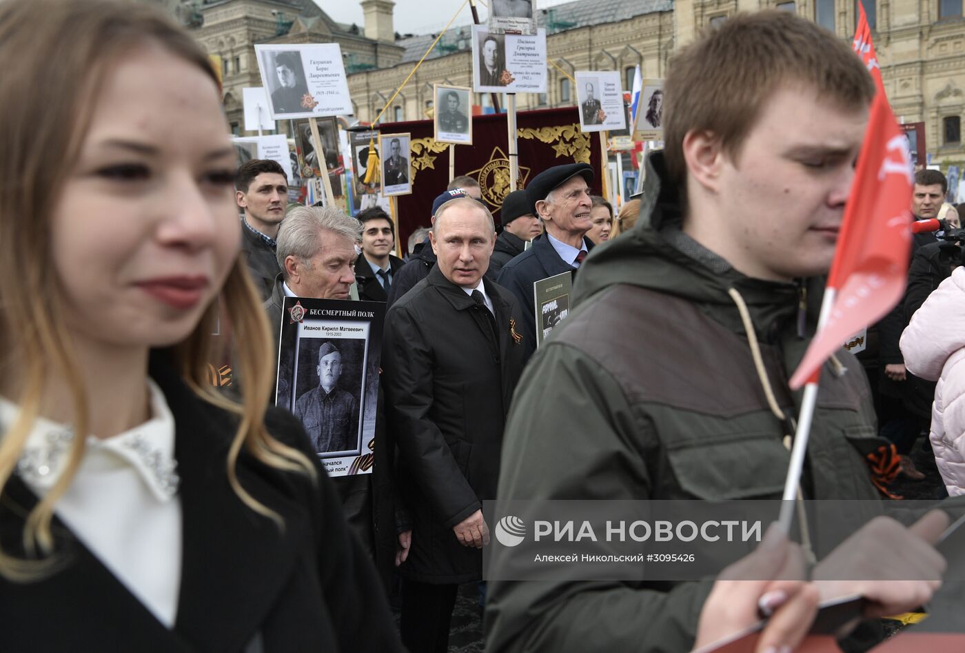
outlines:
[[[400,567],[421,582],[479,580],[482,552],[453,526],[496,497],[503,426],[523,366],[515,299],[484,280],[498,329],[472,298],[434,268],[389,309],[382,338],[387,421],[399,447],[399,488],[412,519]],[[486,313],[484,313],[485,311]],[[490,529],[494,525],[490,525]]]

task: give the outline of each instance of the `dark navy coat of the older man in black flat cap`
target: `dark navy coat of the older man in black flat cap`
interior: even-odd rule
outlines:
[[[591,251],[593,241],[588,238],[584,238],[583,241],[587,245],[587,251]],[[499,271],[496,281],[516,296],[523,310],[523,347],[527,359],[537,350],[537,318],[533,284],[566,271],[572,272],[573,277],[576,277],[576,268],[560,258],[545,234],[535,238],[529,249],[512,259]]]

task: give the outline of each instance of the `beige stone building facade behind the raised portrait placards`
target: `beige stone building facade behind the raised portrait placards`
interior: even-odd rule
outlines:
[[[965,163],[963,2],[865,0],[895,114],[906,123],[924,123],[926,150],[943,170]],[[162,4],[173,5],[170,0]],[[455,11],[458,3],[453,4]],[[366,123],[380,113],[380,122],[424,119],[433,108],[434,83],[472,85],[470,27],[463,24],[439,39],[400,90],[438,35],[399,38],[392,28],[391,0],[365,0],[362,5],[364,27],[337,23],[312,0],[196,0],[178,11],[207,52],[221,57],[225,107],[237,133],[246,133],[240,89],[261,86],[254,43],[339,43],[355,118]],[[516,106],[575,104],[569,76],[577,70],[620,71],[627,89],[638,65],[644,77],[662,77],[676,47],[742,11],[795,12],[849,41],[856,7],[856,0],[575,0],[538,10],[539,24],[547,31],[548,85],[545,94],[518,96]],[[491,106],[487,94],[475,94],[475,101]]]

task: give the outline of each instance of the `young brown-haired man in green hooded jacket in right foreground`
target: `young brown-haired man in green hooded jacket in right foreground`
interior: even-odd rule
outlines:
[[[520,380],[500,499],[782,495],[801,399],[786,380],[813,336],[874,86],[847,43],[763,12],[684,48],[665,91],[639,221],[584,263],[575,310]],[[860,365],[844,365],[822,371],[801,491],[867,499],[857,520],[880,505],[867,456],[885,442]],[[869,616],[913,610],[938,585],[930,542],[947,523],[873,521],[815,552],[811,578],[823,597],[862,593]],[[902,564],[900,582],[841,580]],[[689,651],[709,588],[490,582],[487,650]]]

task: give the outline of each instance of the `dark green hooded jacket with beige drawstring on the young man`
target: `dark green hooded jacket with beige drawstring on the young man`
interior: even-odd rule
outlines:
[[[648,158],[635,227],[593,250],[575,310],[530,361],[503,445],[500,499],[773,499],[792,430],[769,408],[737,304],[747,304],[776,403],[816,325],[823,279],[747,277],[680,231],[676,190]],[[805,309],[806,308],[806,309]],[[807,498],[870,499],[876,437],[857,360],[822,369]],[[837,370],[837,371],[836,371]],[[867,515],[866,515],[867,517]],[[710,582],[490,582],[487,651],[691,650]]]

